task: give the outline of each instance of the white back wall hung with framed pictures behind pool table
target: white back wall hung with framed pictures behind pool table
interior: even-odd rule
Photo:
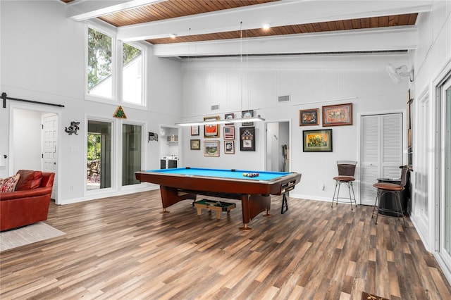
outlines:
[[[407,80],[400,85],[390,80],[385,73],[387,63],[407,64],[407,55],[290,56],[246,58],[245,62],[240,58],[190,59],[183,62],[183,117],[185,121],[202,120],[204,115],[223,118],[225,113],[240,115],[242,110],[254,109],[267,122],[290,120],[290,170],[302,173],[301,183],[291,195],[329,201],[335,185],[332,178],[337,173],[336,161],[359,158],[359,115],[406,108]],[[291,100],[280,104],[278,96],[283,95],[290,95]],[[299,110],[349,102],[353,103],[354,124],[328,127],[333,128],[333,152],[302,152],[302,130],[323,127],[321,123],[299,127]],[[218,111],[211,111],[213,104],[219,105]],[[204,157],[203,151],[190,151],[190,139],[199,137],[190,137],[185,128],[184,164],[263,170],[265,127],[255,124],[255,152],[241,152],[236,136],[235,154],[223,154],[221,129],[218,158]],[[239,127],[235,126],[235,132]],[[202,134],[200,139],[204,139]],[[326,189],[319,189],[321,182]]]

